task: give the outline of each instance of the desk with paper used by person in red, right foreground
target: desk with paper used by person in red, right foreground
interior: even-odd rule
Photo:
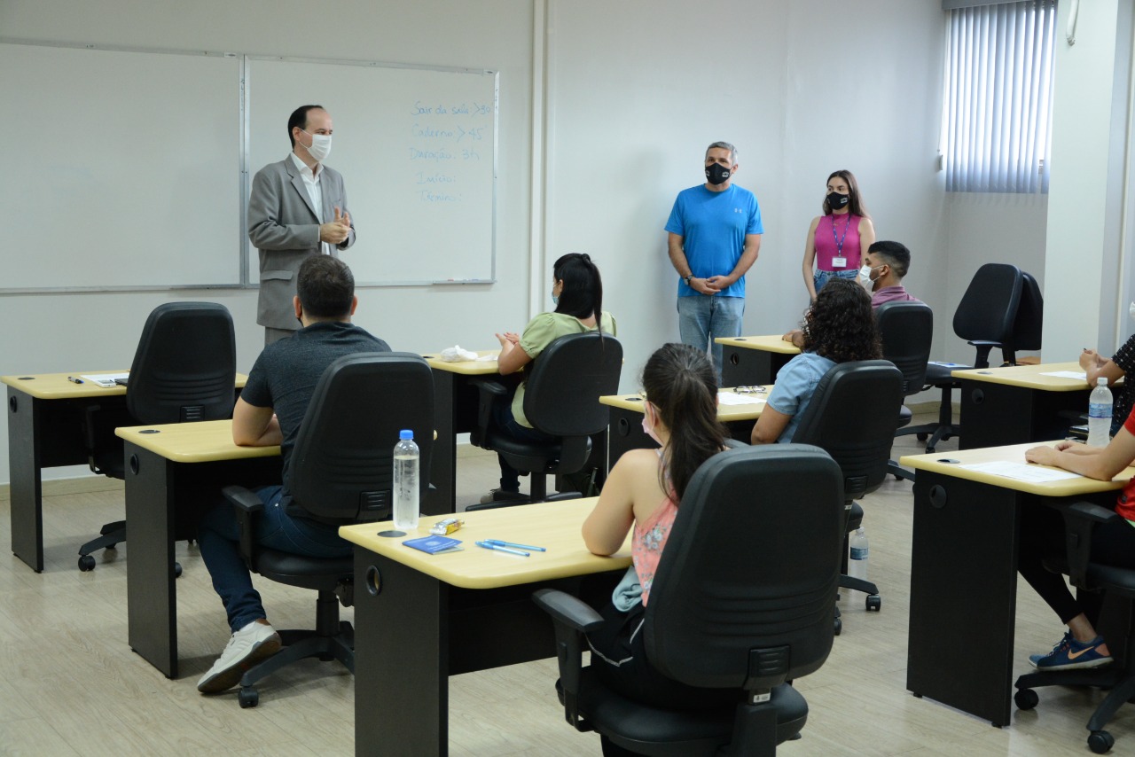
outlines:
[[[997,726],[1010,722],[1022,508],[1079,499],[1112,506],[1116,491],[1135,476],[1128,468],[1111,481],[1077,477],[1029,483],[960,468],[991,461],[1024,463],[1031,446],[899,460],[918,471],[907,689]],[[943,462],[950,460],[958,462]]]

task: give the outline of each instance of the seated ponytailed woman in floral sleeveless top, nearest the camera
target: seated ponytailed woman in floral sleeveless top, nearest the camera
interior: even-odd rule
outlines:
[[[644,608],[670,529],[693,472],[725,445],[717,422],[717,377],[704,350],[667,344],[642,371],[644,430],[661,449],[632,449],[611,469],[595,510],[583,523],[583,542],[597,555],[619,550],[628,531],[633,566],[589,634],[591,664],[613,689],[658,707],[701,709],[740,697],[739,691],[697,689],[658,673],[647,661]]]

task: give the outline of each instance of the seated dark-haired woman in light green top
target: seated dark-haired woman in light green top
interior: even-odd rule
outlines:
[[[603,310],[603,279],[589,255],[574,252],[564,255],[552,267],[552,280],[555,311],[540,313],[530,320],[523,334],[505,331],[496,335],[501,342],[497,364],[502,376],[522,370],[562,336],[596,329],[615,335],[615,319]],[[493,407],[493,421],[504,434],[520,440],[543,441],[552,438],[532,428],[524,418],[523,382],[516,387],[510,402],[498,403]],[[507,495],[520,491],[520,474],[504,457],[497,457],[501,462],[501,488],[482,497],[482,502],[506,499]]]

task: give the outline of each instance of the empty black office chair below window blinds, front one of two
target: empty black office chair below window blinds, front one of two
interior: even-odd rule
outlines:
[[[1003,356],[1012,358],[1012,334],[1023,288],[1024,275],[1016,266],[985,263],[977,269],[953,313],[953,333],[976,348],[974,364],[931,363],[926,369],[927,388],[938,387],[942,390],[938,421],[908,426],[897,436],[916,435],[919,441],[926,441],[927,453],[934,452],[939,441],[960,436],[961,427],[953,422],[952,395],[953,389],[961,384],[950,376],[950,372],[968,368],[989,368],[989,355],[993,347],[1001,347]]]

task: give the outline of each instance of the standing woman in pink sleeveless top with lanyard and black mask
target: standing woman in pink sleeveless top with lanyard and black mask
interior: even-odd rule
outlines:
[[[864,253],[875,242],[875,227],[851,171],[827,177],[823,209],[823,216],[812,219],[804,241],[804,285],[812,300],[832,278],[854,279]]]

